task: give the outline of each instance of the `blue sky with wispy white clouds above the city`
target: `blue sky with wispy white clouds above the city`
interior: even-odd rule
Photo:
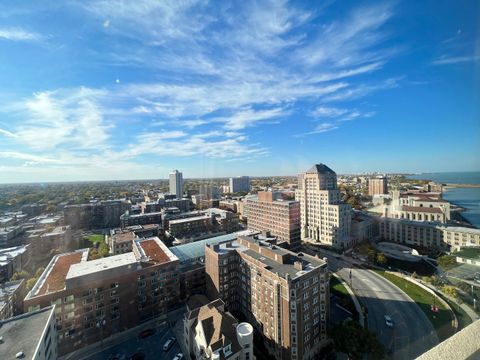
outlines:
[[[4,1],[0,182],[480,170],[477,1]]]

